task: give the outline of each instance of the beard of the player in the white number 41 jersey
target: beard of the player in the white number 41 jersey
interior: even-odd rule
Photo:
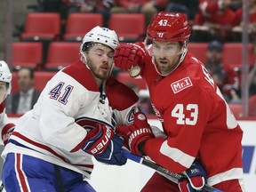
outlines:
[[[92,74],[94,76],[96,76],[97,78],[99,78],[100,80],[104,81],[104,80],[107,80],[108,77],[110,76],[110,73],[111,73],[111,70],[112,70],[112,67],[109,68],[109,70],[102,70],[100,68],[100,66],[98,67],[97,65],[94,65],[93,61],[87,57],[87,65],[89,66],[89,68],[91,69],[92,71]],[[108,64],[107,64],[108,65]],[[113,65],[113,64],[112,64]]]

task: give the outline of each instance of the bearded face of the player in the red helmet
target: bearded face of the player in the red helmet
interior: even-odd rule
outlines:
[[[153,42],[152,55],[163,75],[169,74],[178,65],[180,48],[179,42]]]

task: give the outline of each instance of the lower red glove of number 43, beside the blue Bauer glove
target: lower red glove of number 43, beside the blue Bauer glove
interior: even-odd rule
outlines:
[[[147,117],[141,112],[134,115],[133,124],[116,127],[116,133],[124,138],[132,153],[137,156],[143,155],[140,151],[140,144],[143,141],[155,138],[155,135],[148,124]]]

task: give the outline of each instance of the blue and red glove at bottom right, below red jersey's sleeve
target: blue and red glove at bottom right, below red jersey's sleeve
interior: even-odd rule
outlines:
[[[185,174],[188,176],[188,180],[182,180],[178,184],[181,192],[196,192],[201,190],[204,184],[206,184],[206,172],[203,165],[197,159]]]

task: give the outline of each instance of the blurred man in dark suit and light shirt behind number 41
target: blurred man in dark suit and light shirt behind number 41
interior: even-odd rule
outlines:
[[[20,68],[18,71],[19,92],[12,95],[12,114],[23,115],[33,108],[41,92],[34,89],[34,70]]]

